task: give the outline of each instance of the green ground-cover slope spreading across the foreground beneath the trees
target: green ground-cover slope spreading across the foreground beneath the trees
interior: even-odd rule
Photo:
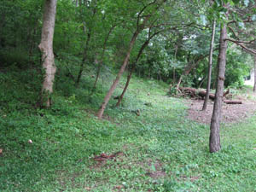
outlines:
[[[256,190],[255,118],[222,126],[222,151],[209,154],[208,125],[186,119],[185,101],[165,96],[166,84],[132,79],[123,106],[111,100],[110,120],[98,120],[108,85],[88,102],[90,79],[78,90],[58,79],[53,108],[34,109],[35,74],[0,73],[0,191]]]

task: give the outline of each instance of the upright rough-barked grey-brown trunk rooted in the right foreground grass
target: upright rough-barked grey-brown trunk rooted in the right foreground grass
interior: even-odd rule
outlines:
[[[212,112],[211,131],[209,138],[210,153],[220,150],[219,124],[221,119],[222,100],[224,91],[224,75],[226,67],[226,52],[227,52],[227,28],[224,23],[219,38],[219,52],[218,52],[218,76],[217,88],[215,93],[214,107]]]

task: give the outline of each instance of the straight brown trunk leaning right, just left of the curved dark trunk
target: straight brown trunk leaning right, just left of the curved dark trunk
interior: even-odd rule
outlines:
[[[126,53],[126,56],[125,56],[125,60],[124,60],[124,62],[123,62],[123,65],[122,65],[122,67],[120,68],[119,73],[118,73],[116,79],[113,81],[112,86],[111,86],[110,89],[108,90],[108,94],[105,96],[104,101],[103,101],[103,103],[102,103],[102,106],[101,106],[100,110],[99,110],[98,113],[97,113],[97,117],[98,117],[99,119],[102,119],[102,115],[103,115],[103,113],[104,113],[104,110],[105,110],[106,106],[108,105],[108,102],[109,102],[109,100],[110,100],[110,97],[111,97],[112,94],[113,94],[113,90],[115,90],[116,86],[117,86],[118,83],[119,83],[119,79],[121,78],[122,74],[123,74],[124,71],[125,71],[125,67],[126,67],[128,61],[129,61],[129,59],[130,59],[131,49],[133,48],[133,45],[135,44],[135,41],[136,41],[136,39],[137,39],[138,34],[139,34],[139,31],[137,30],[137,31],[133,34],[133,36],[132,36],[132,38],[131,38],[131,42],[130,42],[130,44],[129,44],[129,49],[128,49],[127,53]]]

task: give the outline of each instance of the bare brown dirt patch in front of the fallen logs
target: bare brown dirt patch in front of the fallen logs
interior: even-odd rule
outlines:
[[[188,100],[188,118],[203,124],[210,124],[212,119],[213,102],[208,102],[207,110],[202,112],[203,100]],[[242,104],[229,105],[223,103],[222,122],[235,123],[250,117],[256,111],[256,103],[242,101]]]

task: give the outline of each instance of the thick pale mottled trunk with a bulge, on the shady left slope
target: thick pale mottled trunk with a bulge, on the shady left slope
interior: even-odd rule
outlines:
[[[56,3],[57,0],[45,0],[41,43],[38,46],[42,52],[43,68],[45,70],[41,104],[46,108],[49,108],[51,105],[50,95],[53,92],[56,72],[52,46],[55,30]]]

